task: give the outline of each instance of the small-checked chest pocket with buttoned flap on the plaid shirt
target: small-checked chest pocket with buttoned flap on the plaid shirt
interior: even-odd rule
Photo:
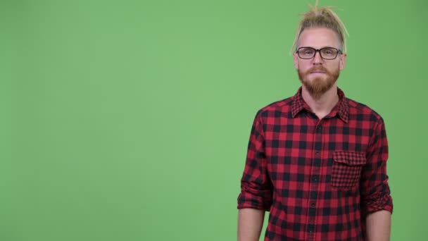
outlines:
[[[360,181],[366,162],[364,152],[336,151],[333,153],[332,187],[350,189]]]

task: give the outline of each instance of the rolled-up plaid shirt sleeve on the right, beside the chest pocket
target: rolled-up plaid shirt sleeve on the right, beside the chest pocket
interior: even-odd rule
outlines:
[[[379,118],[374,126],[372,140],[367,149],[367,163],[361,178],[361,206],[363,216],[375,211],[386,210],[392,213],[393,204],[389,190],[386,161],[388,159],[388,140],[384,121]]]

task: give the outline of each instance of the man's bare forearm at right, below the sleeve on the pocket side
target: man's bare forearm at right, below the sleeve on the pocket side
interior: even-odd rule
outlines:
[[[367,241],[389,241],[391,233],[391,213],[386,210],[367,215]]]

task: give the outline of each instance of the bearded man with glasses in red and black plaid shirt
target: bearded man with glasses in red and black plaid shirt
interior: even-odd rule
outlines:
[[[303,15],[294,42],[302,86],[258,111],[241,193],[238,240],[389,240],[392,199],[384,121],[336,85],[346,29],[330,8]]]

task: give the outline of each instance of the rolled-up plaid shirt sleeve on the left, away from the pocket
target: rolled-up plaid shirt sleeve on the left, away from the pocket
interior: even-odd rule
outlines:
[[[244,174],[241,178],[238,209],[269,211],[271,204],[272,183],[267,175],[265,136],[260,111],[258,111],[251,128]]]

